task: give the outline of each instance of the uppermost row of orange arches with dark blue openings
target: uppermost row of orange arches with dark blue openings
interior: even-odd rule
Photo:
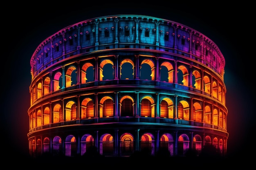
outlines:
[[[99,64],[98,60],[83,64],[78,62],[63,66],[61,71],[45,75],[38,79],[31,88],[31,104],[43,95],[63,88],[112,79],[143,79],[177,83],[204,91],[220,102],[225,102],[225,87],[220,80],[192,65],[168,60],[160,63],[159,58],[155,61],[146,58],[139,64],[139,57],[136,57],[135,62],[125,58],[117,64],[117,58],[115,57],[114,62],[111,59],[99,60]]]

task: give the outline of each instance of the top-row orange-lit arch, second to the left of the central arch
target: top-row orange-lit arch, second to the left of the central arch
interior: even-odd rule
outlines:
[[[94,68],[93,64],[87,62],[81,68],[81,84],[94,81]]]

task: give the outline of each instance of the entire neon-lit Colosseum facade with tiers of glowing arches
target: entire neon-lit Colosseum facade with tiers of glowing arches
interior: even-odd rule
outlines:
[[[184,156],[227,150],[225,59],[209,38],[143,15],[93,18],[44,40],[31,57],[32,156]]]

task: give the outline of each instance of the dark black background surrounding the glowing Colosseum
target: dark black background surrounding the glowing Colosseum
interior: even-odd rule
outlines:
[[[19,3],[19,2],[18,2]],[[33,2],[34,3],[34,2]],[[255,30],[252,4],[172,1],[69,1],[13,4],[2,13],[1,155],[21,158],[29,153],[30,59],[38,45],[66,26],[118,14],[149,15],[172,20],[206,35],[226,60],[224,81],[228,108],[227,154],[234,160],[255,154]],[[247,52],[251,51],[251,53]],[[252,56],[253,55],[253,56]],[[249,78],[248,78],[249,77]],[[251,137],[250,137],[251,136]],[[235,162],[234,161],[234,162]]]

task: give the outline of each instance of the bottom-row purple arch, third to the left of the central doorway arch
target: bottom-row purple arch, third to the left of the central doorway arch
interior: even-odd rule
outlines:
[[[65,155],[72,157],[77,154],[76,138],[73,135],[68,135],[65,140]]]

